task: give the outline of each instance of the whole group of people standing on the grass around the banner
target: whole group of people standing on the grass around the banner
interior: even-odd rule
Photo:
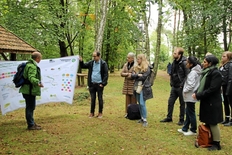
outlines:
[[[220,129],[218,123],[232,126],[232,52],[224,52],[219,69],[219,60],[212,54],[206,55],[202,64],[194,56],[184,57],[184,49],[177,47],[173,52],[173,62],[170,70],[170,96],[168,99],[167,117],[160,122],[173,121],[173,109],[177,99],[180,102],[178,125],[183,126],[178,132],[184,135],[196,135],[197,119],[195,103],[200,101],[199,120],[210,127],[213,136],[213,145],[209,150],[220,150]],[[79,56],[80,67],[88,69],[88,87],[91,95],[89,117],[95,116],[96,94],[99,110],[96,117],[103,117],[103,90],[108,82],[108,66],[101,59],[101,53],[94,51],[93,59],[84,63]],[[40,96],[43,87],[40,68],[37,63],[42,59],[39,52],[32,53],[29,64],[25,68],[24,77],[31,84],[20,88],[25,101],[25,115],[28,130],[40,130],[41,126],[34,122],[36,96]],[[135,61],[136,59],[136,61]],[[141,119],[144,127],[148,125],[146,100],[153,98],[149,74],[151,65],[144,54],[130,52],[127,62],[121,71],[124,77],[123,91],[126,96],[125,113],[129,104],[139,104]],[[33,87],[30,88],[30,85]],[[222,100],[224,103],[225,120],[223,121]]]

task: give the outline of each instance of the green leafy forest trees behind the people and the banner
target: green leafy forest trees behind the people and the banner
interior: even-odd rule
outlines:
[[[0,7],[0,24],[43,58],[81,55],[87,61],[99,50],[111,73],[131,51],[146,54],[157,72],[176,46],[200,60],[207,52],[220,58],[231,48],[230,0],[1,0]],[[151,25],[151,15],[157,25]]]

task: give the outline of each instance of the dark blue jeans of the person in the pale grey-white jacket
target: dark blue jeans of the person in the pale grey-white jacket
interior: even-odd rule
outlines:
[[[196,120],[196,113],[195,113],[195,102],[186,102],[186,119],[185,119],[182,130],[187,132],[190,124],[191,124],[190,130],[196,133],[197,120]]]

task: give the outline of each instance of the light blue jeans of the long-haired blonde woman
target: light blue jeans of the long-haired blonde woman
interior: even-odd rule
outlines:
[[[147,119],[146,101],[143,99],[143,91],[140,94],[136,93],[136,99],[139,102],[139,111],[143,119]]]

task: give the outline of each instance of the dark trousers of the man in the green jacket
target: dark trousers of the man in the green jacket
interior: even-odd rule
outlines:
[[[26,102],[26,109],[25,109],[25,117],[27,120],[27,126],[32,127],[34,122],[34,110],[35,110],[35,102],[36,102],[36,96],[23,94],[23,98]]]

